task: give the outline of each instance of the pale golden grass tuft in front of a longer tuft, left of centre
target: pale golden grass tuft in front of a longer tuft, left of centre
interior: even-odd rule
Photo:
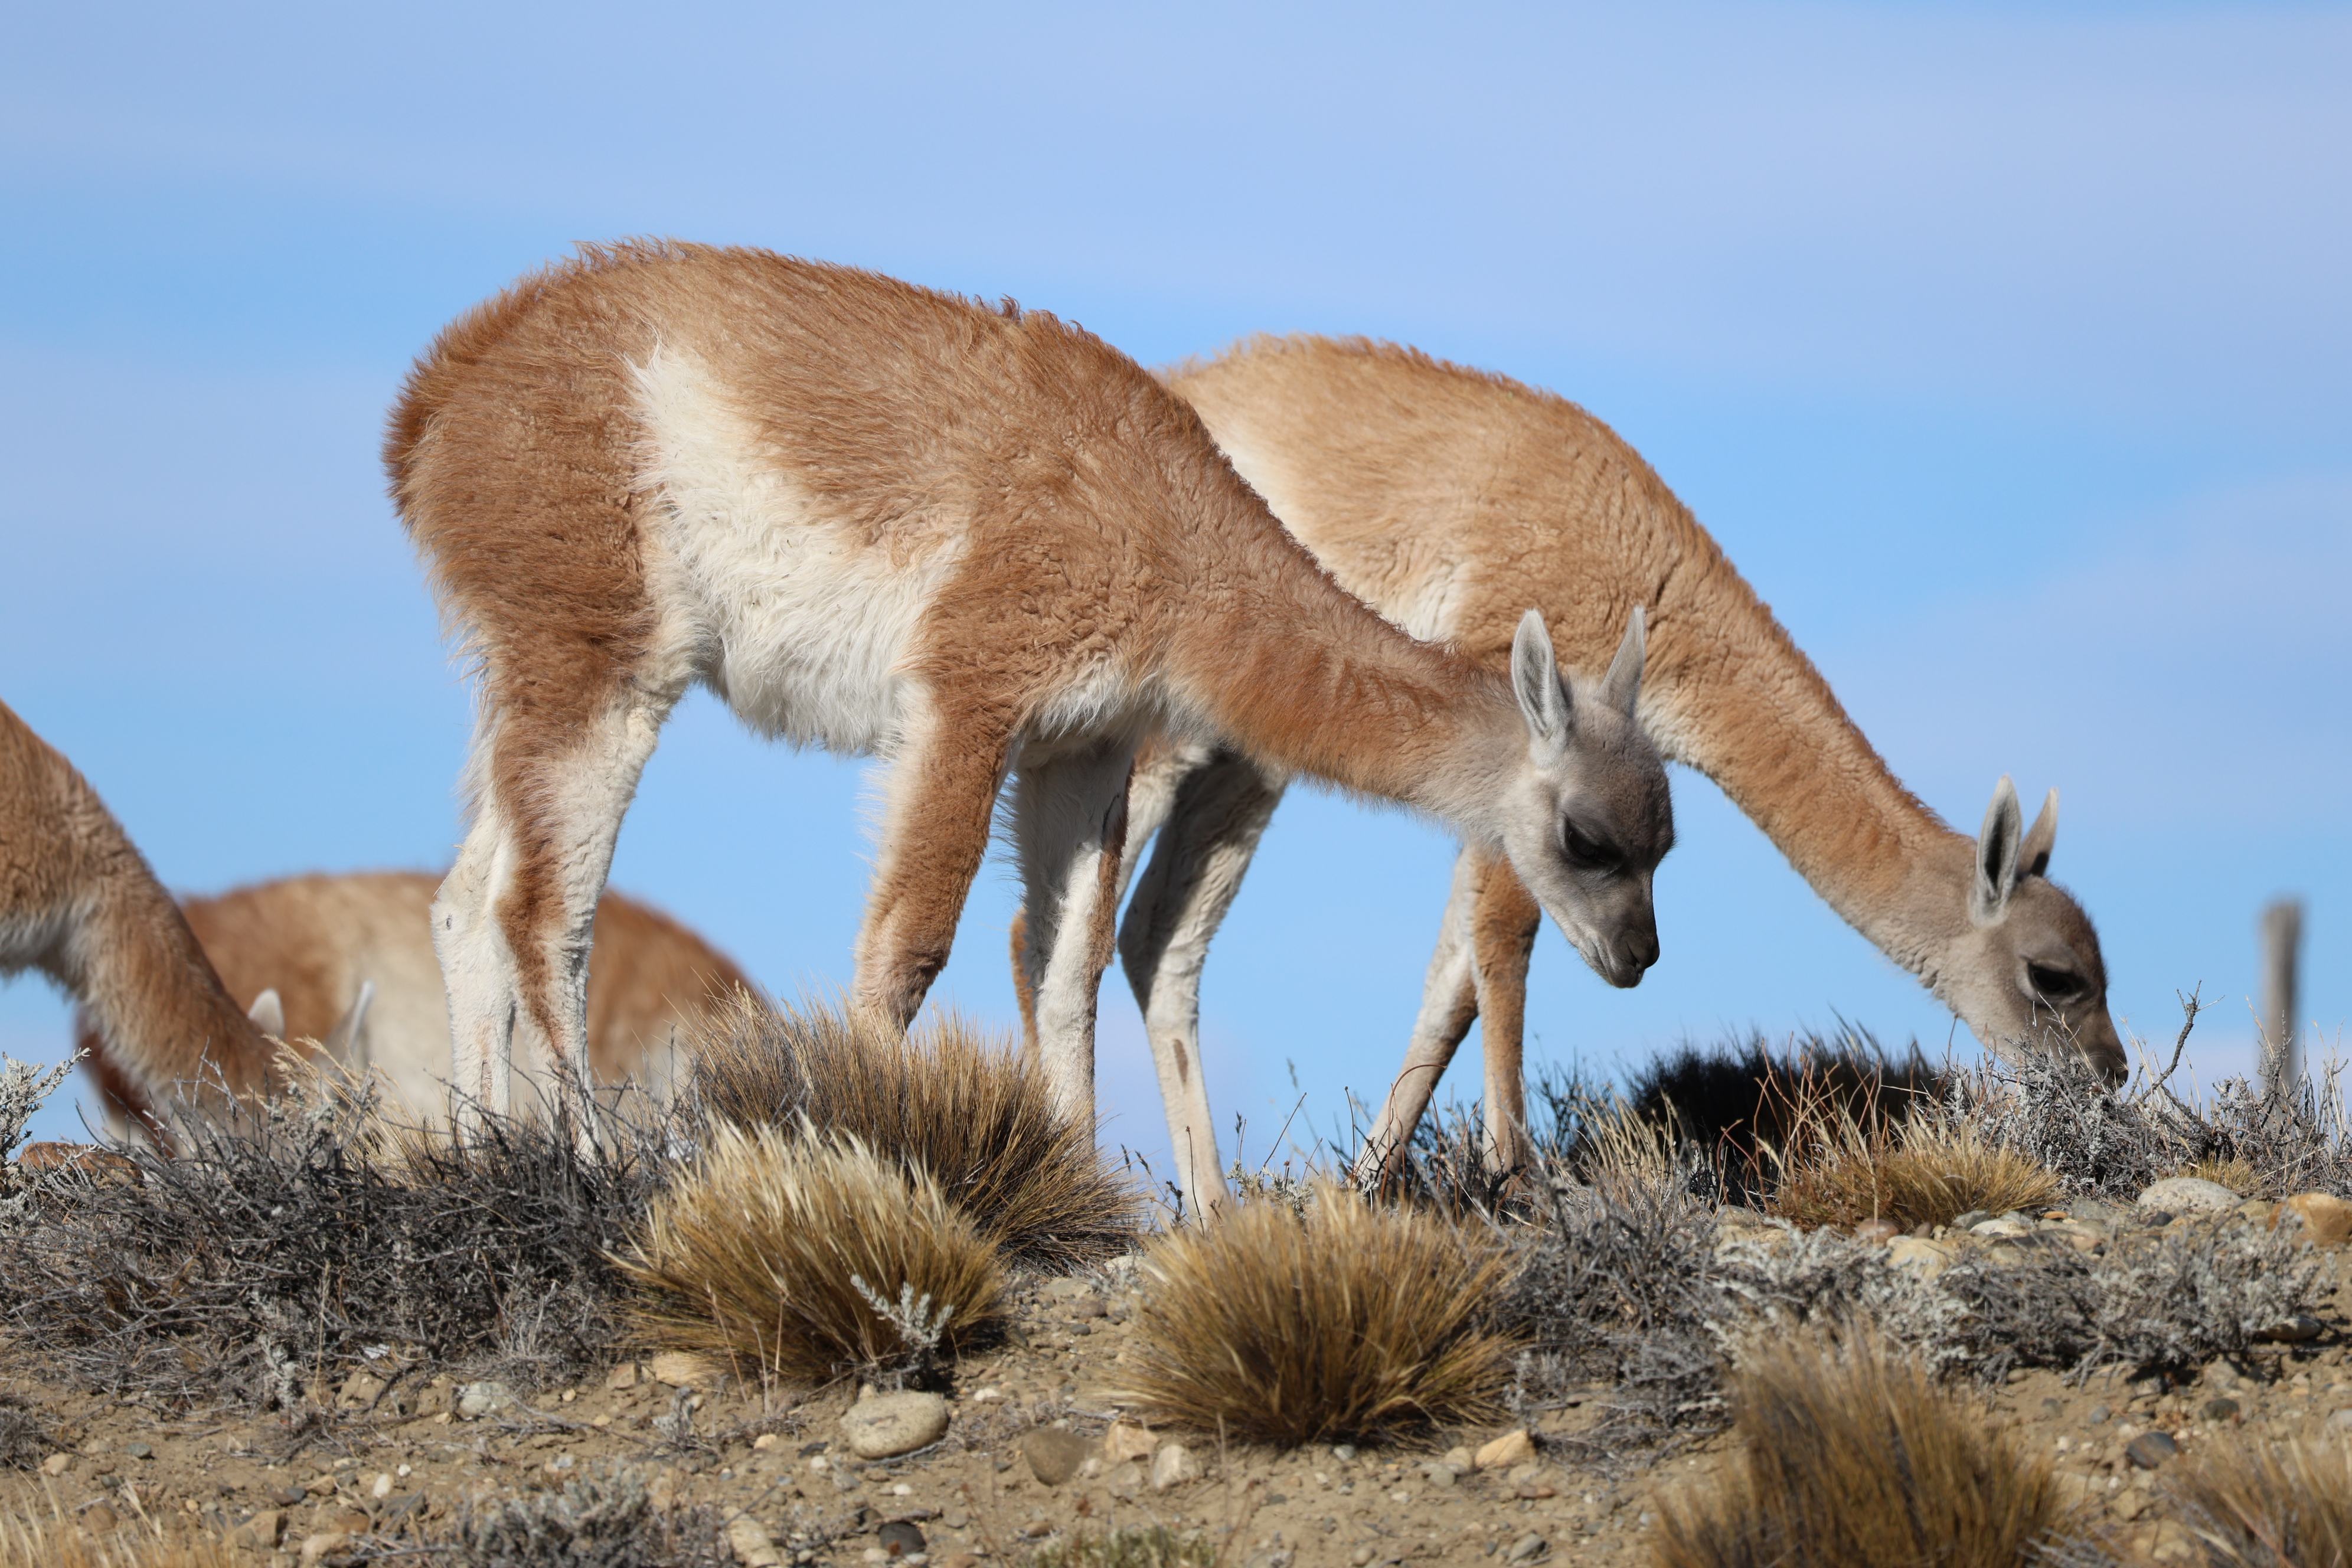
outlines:
[[[997,1248],[849,1133],[720,1128],[616,1258],[649,1345],[800,1382],[908,1375],[1000,1316]]]

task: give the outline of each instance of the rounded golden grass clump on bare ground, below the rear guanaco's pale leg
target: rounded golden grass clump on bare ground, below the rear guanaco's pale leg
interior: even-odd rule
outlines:
[[[1484,1227],[1317,1182],[1160,1239],[1120,1399],[1244,1439],[1374,1439],[1494,1418],[1515,1342]]]

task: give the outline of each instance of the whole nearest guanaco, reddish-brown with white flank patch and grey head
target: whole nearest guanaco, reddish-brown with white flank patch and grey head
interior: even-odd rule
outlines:
[[[595,898],[696,679],[757,731],[891,762],[851,985],[891,1027],[948,959],[1016,776],[1068,1114],[1094,1114],[1127,780],[1155,729],[1442,818],[1613,983],[1658,954],[1672,820],[1630,717],[1639,630],[1602,686],[1562,679],[1536,614],[1508,679],[1406,637],[1178,397],[1051,315],[753,249],[595,247],[442,331],[386,465],[480,668],[433,940],[454,1081],[492,1110],[517,1051],[581,1058]]]

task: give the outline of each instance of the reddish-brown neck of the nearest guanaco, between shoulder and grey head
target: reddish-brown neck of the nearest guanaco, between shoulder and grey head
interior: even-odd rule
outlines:
[[[1364,609],[1235,489],[1230,508],[1263,522],[1195,534],[1225,550],[1190,562],[1169,607],[1178,701],[1265,762],[1498,837],[1526,748],[1508,686]]]

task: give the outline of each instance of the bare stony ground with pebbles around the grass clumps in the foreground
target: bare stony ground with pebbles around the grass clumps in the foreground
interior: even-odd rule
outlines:
[[[2098,1251],[2119,1225],[2166,1222],[2147,1208],[2077,1204],[1889,1246],[1912,1269],[1976,1248]],[[2274,1218],[2274,1206],[2246,1204],[2223,1222]],[[2223,1436],[2352,1436],[2347,1253],[2331,1246],[2326,1260],[2328,1312],[2281,1326],[2234,1366],[2171,1382],[2013,1373],[1985,1399],[2025,1448],[2056,1462],[2124,1561],[2197,1561],[2169,1519],[2166,1472]],[[626,1361],[529,1396],[386,1359],[339,1387],[332,1420],[289,1429],[273,1415],[75,1394],[9,1359],[5,1392],[47,1441],[21,1446],[33,1469],[0,1472],[0,1500],[42,1516],[64,1509],[92,1533],[165,1521],[230,1535],[242,1561],[332,1563],[430,1537],[473,1497],[628,1467],[656,1502],[715,1509],[746,1563],[1018,1563],[1049,1537],[1162,1523],[1204,1533],[1237,1566],[1604,1566],[1644,1561],[1661,1488],[1703,1483],[1733,1458],[1726,1436],[1670,1458],[1578,1458],[1562,1439],[1590,1425],[1604,1389],[1531,1413],[1524,1429],[1437,1432],[1395,1448],[1279,1453],[1148,1432],[1103,1396],[1129,1354],[1131,1305],[1131,1260],[1030,1281],[1009,1340],[957,1366],[946,1396],[882,1394],[863,1408],[858,1389],[790,1399],[687,1356]],[[920,1448],[891,1453],[908,1443]]]

